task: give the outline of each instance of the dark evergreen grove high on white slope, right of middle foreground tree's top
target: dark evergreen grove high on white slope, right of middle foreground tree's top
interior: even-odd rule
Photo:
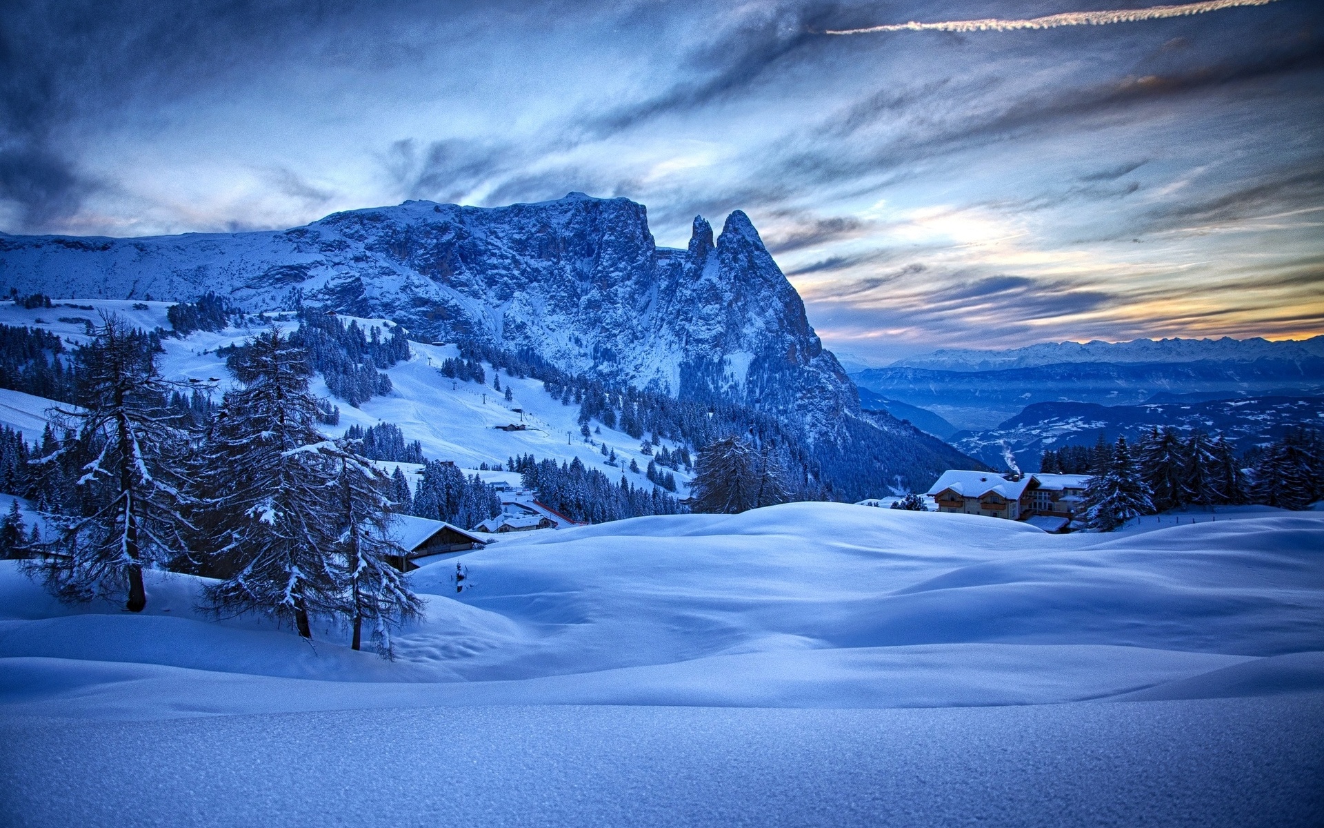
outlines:
[[[365,334],[357,321],[348,326],[320,309],[299,311],[299,330],[290,340],[305,348],[335,396],[357,408],[365,400],[391,393],[391,378],[380,371],[409,359],[409,340],[399,325],[383,339],[381,329]]]

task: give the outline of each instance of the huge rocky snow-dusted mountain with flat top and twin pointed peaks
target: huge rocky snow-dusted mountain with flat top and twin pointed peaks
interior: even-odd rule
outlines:
[[[424,342],[473,343],[606,383],[775,415],[837,492],[925,488],[973,462],[886,411],[863,412],[804,302],[743,212],[658,248],[647,211],[569,193],[499,208],[406,201],[289,231],[154,238],[0,233],[0,286],[21,294],[327,306]]]

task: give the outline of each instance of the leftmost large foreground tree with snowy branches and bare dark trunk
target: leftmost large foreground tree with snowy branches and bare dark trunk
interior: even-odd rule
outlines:
[[[114,314],[103,314],[93,340],[78,350],[77,401],[60,417],[75,431],[58,454],[86,460],[77,480],[81,517],[28,567],[65,600],[127,594],[124,607],[147,605],[143,570],[187,548],[179,469],[185,435],[167,408],[172,386],[156,371],[158,342]]]

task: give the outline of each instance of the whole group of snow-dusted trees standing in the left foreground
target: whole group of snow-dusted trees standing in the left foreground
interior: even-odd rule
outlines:
[[[395,481],[361,440],[316,429],[307,352],[275,329],[260,334],[232,354],[238,387],[213,411],[159,376],[154,344],[111,315],[77,351],[79,407],[28,450],[19,484],[58,529],[23,546],[25,568],[65,600],[127,596],[134,612],[148,599],[144,570],[207,575],[218,616],[263,613],[305,637],[312,619],[339,620],[356,648],[367,629],[389,654],[392,627],[421,609],[389,564],[404,554],[391,535]],[[17,468],[15,439],[0,431],[0,465]],[[16,517],[0,522],[0,543],[21,535]]]

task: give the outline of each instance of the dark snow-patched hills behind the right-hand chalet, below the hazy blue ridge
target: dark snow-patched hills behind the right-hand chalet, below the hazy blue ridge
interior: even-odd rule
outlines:
[[[1237,452],[1272,442],[1296,425],[1324,428],[1324,396],[1251,396],[1237,400],[1099,405],[1096,403],[1035,403],[997,428],[957,432],[959,449],[994,468],[1013,464],[1035,472],[1045,449],[1094,445],[1099,433],[1137,440],[1155,427],[1189,433],[1221,433]]]

